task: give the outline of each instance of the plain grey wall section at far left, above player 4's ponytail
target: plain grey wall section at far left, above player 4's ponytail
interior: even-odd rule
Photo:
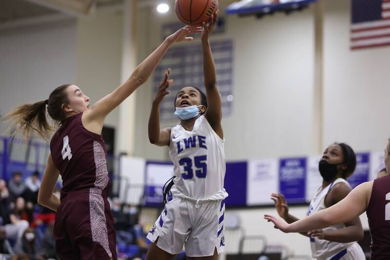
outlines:
[[[1,30],[0,42],[0,115],[75,80],[75,20]]]

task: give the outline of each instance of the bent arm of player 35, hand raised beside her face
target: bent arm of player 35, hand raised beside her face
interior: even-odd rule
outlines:
[[[171,69],[165,72],[165,77],[161,80],[158,86],[156,96],[152,103],[152,110],[150,111],[148,134],[149,141],[158,146],[169,145],[171,138],[171,128],[160,129],[160,103],[166,95],[169,94],[168,87],[172,84],[173,80],[169,79]]]

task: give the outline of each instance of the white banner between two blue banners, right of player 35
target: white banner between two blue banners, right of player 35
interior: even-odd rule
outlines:
[[[278,162],[277,159],[248,161],[247,205],[273,204],[270,196],[278,192]]]

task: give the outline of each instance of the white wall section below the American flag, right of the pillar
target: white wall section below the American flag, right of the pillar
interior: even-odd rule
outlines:
[[[351,51],[350,1],[324,6],[324,145],[380,150],[390,137],[390,47]]]

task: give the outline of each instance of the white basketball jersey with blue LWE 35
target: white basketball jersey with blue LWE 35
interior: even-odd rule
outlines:
[[[172,127],[169,155],[176,178],[171,191],[192,199],[223,200],[226,161],[224,140],[204,116],[196,119],[192,131],[181,124]]]

